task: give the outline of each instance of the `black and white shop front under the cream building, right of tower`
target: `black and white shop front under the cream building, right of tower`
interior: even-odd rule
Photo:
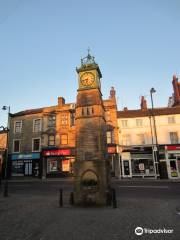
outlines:
[[[152,147],[131,147],[121,153],[123,178],[156,177]]]

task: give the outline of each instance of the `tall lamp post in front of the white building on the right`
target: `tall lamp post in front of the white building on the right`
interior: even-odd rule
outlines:
[[[153,119],[153,128],[154,128],[154,135],[155,135],[155,148],[153,147],[153,154],[155,156],[155,170],[156,174],[159,175],[159,147],[158,147],[158,139],[157,139],[157,131],[156,131],[156,119],[154,116],[154,102],[153,102],[153,94],[156,92],[154,88],[150,89],[150,95],[151,95],[151,114]],[[153,137],[152,137],[153,140]]]

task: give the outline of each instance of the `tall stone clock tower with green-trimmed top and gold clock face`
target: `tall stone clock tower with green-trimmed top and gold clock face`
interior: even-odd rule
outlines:
[[[105,159],[105,109],[101,71],[89,53],[76,69],[76,161],[74,201],[77,205],[105,205],[109,191],[109,164]]]

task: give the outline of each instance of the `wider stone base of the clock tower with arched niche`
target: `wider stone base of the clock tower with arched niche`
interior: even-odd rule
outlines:
[[[109,163],[103,160],[74,163],[74,203],[103,206],[110,189]]]

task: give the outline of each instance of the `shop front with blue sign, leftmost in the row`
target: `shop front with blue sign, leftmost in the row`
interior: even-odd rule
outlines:
[[[40,153],[11,155],[11,176],[39,177]]]

